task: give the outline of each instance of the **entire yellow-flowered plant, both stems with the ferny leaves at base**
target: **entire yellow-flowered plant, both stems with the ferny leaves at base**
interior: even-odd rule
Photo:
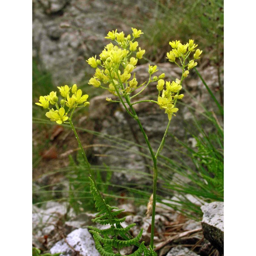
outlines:
[[[153,251],[154,248],[154,227],[155,227],[155,212],[156,212],[156,183],[157,183],[157,157],[159,156],[163,146],[165,137],[167,135],[167,131],[169,129],[172,116],[175,116],[174,113],[176,113],[179,109],[176,107],[177,100],[181,100],[183,98],[183,94],[180,94],[180,90],[182,89],[182,82],[183,80],[188,77],[189,70],[194,68],[197,65],[197,62],[195,60],[200,58],[200,55],[202,51],[199,49],[196,49],[197,44],[194,44],[194,40],[189,40],[186,44],[181,44],[180,41],[172,41],[169,44],[172,47],[172,50],[170,52],[167,52],[167,57],[170,62],[175,63],[178,65],[178,67],[182,70],[182,75],[179,78],[176,78],[175,81],[164,81],[165,74],[162,73],[160,76],[153,76],[158,69],[156,65],[148,65],[148,74],[149,78],[148,81],[145,81],[142,84],[138,84],[138,81],[136,79],[136,73],[134,70],[136,70],[136,65],[138,62],[138,59],[142,59],[143,55],[145,54],[145,50],[141,49],[139,47],[138,41],[136,41],[136,38],[139,38],[140,35],[143,33],[141,30],[138,30],[136,28],[132,28],[132,36],[127,35],[125,36],[124,32],[117,32],[117,30],[113,30],[112,32],[108,32],[108,35],[105,37],[107,39],[110,39],[114,41],[114,44],[111,42],[107,44],[104,48],[104,50],[100,53],[99,58],[95,55],[95,57],[91,57],[88,60],[88,64],[95,68],[95,73],[93,77],[89,80],[88,84],[91,84],[92,86],[96,88],[102,88],[105,90],[108,90],[111,92],[117,99],[112,100],[111,98],[106,98],[109,102],[120,102],[127,113],[134,118],[139,127],[140,131],[142,132],[144,139],[147,143],[148,149],[150,151],[150,155],[152,157],[153,161],[153,194],[152,194],[152,200],[150,200],[150,207],[148,207],[148,212],[150,212],[149,209],[151,209],[152,212],[152,221],[151,221],[151,238],[150,238],[150,246],[149,249],[147,249],[144,245],[144,242],[142,242],[140,245],[138,245],[140,236],[142,235],[142,230],[140,232],[140,236],[138,236],[136,239],[131,237],[126,237],[128,240],[131,238],[130,244],[139,246],[139,249],[136,255],[141,255],[143,252],[144,255],[147,256],[155,256],[156,253]],[[190,53],[194,52],[193,58],[190,57]],[[133,74],[132,74],[133,72]],[[148,99],[148,100],[139,100],[135,101],[134,98],[137,97],[141,92],[143,92],[149,84],[154,83],[154,86],[156,86],[156,95],[155,99]],[[123,246],[125,244],[128,244],[128,240],[126,241],[120,241],[118,240],[117,234],[120,232],[120,230],[126,230],[126,228],[122,228],[120,225],[119,219],[116,219],[117,213],[122,210],[118,210],[116,212],[111,212],[113,209],[116,209],[115,207],[110,207],[107,205],[104,201],[104,199],[101,196],[101,193],[97,187],[96,180],[94,178],[94,174],[92,169],[90,168],[90,164],[87,160],[87,157],[84,152],[84,148],[81,144],[81,141],[79,140],[79,137],[77,135],[76,129],[72,123],[72,116],[74,113],[74,110],[79,107],[88,106],[90,103],[87,101],[88,95],[82,94],[82,91],[80,89],[77,89],[76,84],[74,84],[72,87],[69,87],[68,85],[57,87],[59,89],[60,95],[63,97],[59,101],[59,97],[57,96],[57,92],[50,92],[47,96],[40,96],[39,102],[36,103],[37,105],[43,107],[44,109],[48,109],[49,111],[46,113],[46,116],[50,118],[51,121],[56,122],[57,124],[65,123],[66,121],[69,122],[76,139],[78,141],[79,147],[83,153],[87,168],[90,173],[91,181],[93,182],[91,188],[92,193],[94,196],[96,195],[96,206],[101,209],[100,213],[98,214],[102,216],[96,218],[100,221],[104,222],[105,216],[109,215],[114,217],[114,220],[110,218],[108,222],[111,225],[111,228],[109,229],[109,232],[111,233],[111,236],[113,239],[107,239],[106,235],[102,237],[98,232],[100,232],[99,229],[97,230],[91,230],[94,234],[95,241],[97,243],[96,247],[101,252],[102,255],[107,255],[106,252],[110,255],[121,255],[120,254],[120,248],[119,246]],[[153,96],[154,97],[154,96]],[[167,124],[166,130],[163,135],[163,139],[160,143],[159,148],[156,152],[153,151],[153,148],[151,147],[151,144],[148,140],[148,136],[140,122],[140,119],[133,108],[133,105],[139,104],[141,102],[152,102],[156,103],[161,109],[165,111],[165,113],[168,115],[169,122]],[[52,105],[50,108],[50,105]],[[70,114],[70,115],[69,115]],[[102,210],[105,209],[105,210]],[[132,224],[133,226],[134,224]],[[132,227],[129,225],[128,228]],[[116,230],[116,231],[115,231]],[[128,230],[128,229],[127,229]],[[113,232],[112,232],[113,231]],[[118,232],[117,232],[118,231]],[[117,232],[117,233],[115,233]],[[109,233],[109,234],[110,234]],[[104,233],[105,234],[105,233]],[[109,238],[109,237],[108,237]],[[135,239],[135,240],[134,240]],[[100,242],[101,241],[101,242]],[[113,244],[112,244],[113,242]],[[102,247],[101,243],[106,243],[106,247]],[[130,245],[129,244],[129,245]],[[112,246],[117,248],[118,254],[113,254]],[[105,251],[107,250],[107,251]],[[133,255],[133,254],[132,254]],[[135,255],[135,254],[134,254]]]

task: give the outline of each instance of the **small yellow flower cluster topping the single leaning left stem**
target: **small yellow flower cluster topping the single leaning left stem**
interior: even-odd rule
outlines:
[[[89,106],[90,102],[87,101],[88,95],[82,95],[82,90],[78,89],[76,84],[71,87],[68,85],[57,87],[60,91],[60,95],[63,97],[60,100],[60,107],[58,105],[59,98],[57,97],[56,92],[50,92],[47,96],[40,96],[39,102],[36,102],[36,105],[41,106],[45,109],[49,109],[45,115],[50,118],[51,121],[56,122],[57,124],[62,124],[68,120],[68,112],[73,108]],[[70,97],[70,91],[72,96]],[[56,109],[50,109],[49,106],[54,105]],[[83,106],[79,106],[83,104]],[[68,107],[67,112],[65,111],[65,106]]]

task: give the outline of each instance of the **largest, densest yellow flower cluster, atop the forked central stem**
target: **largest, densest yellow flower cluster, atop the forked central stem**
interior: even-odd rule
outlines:
[[[136,89],[138,82],[135,77],[131,79],[131,72],[136,67],[138,59],[142,59],[145,50],[140,47],[137,49],[139,43],[134,41],[143,34],[141,30],[132,28],[132,32],[132,36],[125,36],[123,31],[108,32],[105,38],[115,41],[118,45],[109,43],[100,53],[99,59],[95,56],[86,60],[92,68],[96,68],[88,84],[108,89],[114,95],[118,93],[123,95]],[[136,58],[131,57],[132,52],[136,52]],[[108,84],[108,87],[103,86],[102,83]]]

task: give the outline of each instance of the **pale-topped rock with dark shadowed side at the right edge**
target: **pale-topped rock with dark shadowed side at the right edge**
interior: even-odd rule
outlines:
[[[213,202],[201,207],[204,237],[221,253],[224,253],[224,203]]]

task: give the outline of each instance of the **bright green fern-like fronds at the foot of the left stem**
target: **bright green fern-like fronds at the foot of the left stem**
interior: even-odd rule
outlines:
[[[91,229],[90,233],[92,233],[96,248],[100,254],[102,256],[121,256],[121,248],[135,245],[138,249],[130,254],[130,256],[139,256],[142,255],[142,253],[144,253],[144,255],[156,255],[152,250],[150,251],[146,248],[144,242],[139,243],[143,229],[140,230],[138,236],[133,238],[129,234],[129,231],[136,224],[130,224],[126,228],[123,228],[120,223],[124,222],[125,217],[118,218],[118,215],[124,210],[119,210],[117,207],[111,207],[106,204],[98,189],[95,187],[92,179],[89,179],[91,183],[92,196],[95,201],[95,207],[99,211],[99,213],[96,214],[95,219],[92,221],[100,223],[101,225],[111,225],[111,227],[107,229],[89,227]],[[119,239],[119,237],[123,238],[123,240]],[[117,251],[117,253],[114,251]]]

